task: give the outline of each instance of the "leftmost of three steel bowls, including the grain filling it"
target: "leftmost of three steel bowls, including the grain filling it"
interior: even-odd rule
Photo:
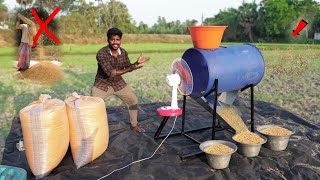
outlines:
[[[199,147],[206,153],[208,164],[213,169],[227,168],[231,155],[237,151],[235,144],[223,140],[205,141]]]

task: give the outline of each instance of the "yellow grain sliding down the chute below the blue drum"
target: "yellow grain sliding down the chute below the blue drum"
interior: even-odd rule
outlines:
[[[246,124],[244,124],[243,120],[232,106],[223,106],[217,113],[236,131],[236,133],[248,131]]]

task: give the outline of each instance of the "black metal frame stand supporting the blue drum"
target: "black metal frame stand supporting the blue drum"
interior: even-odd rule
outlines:
[[[196,132],[196,131],[201,131],[201,130],[205,130],[205,129],[212,129],[212,133],[211,133],[211,139],[214,140],[215,139],[215,133],[218,131],[229,131],[231,133],[234,133],[234,131],[232,129],[230,129],[229,127],[221,127],[220,125],[220,121],[217,122],[217,116],[219,118],[221,118],[218,114],[217,114],[217,105],[218,105],[218,79],[214,80],[214,88],[212,88],[212,90],[210,92],[208,92],[206,95],[204,95],[202,98],[207,98],[212,92],[214,92],[214,104],[213,104],[213,108],[211,108],[208,105],[208,102],[203,102],[202,98],[199,99],[194,99],[196,102],[198,102],[202,107],[204,107],[207,111],[209,111],[212,114],[212,125],[208,126],[208,127],[202,127],[202,128],[197,128],[197,129],[191,129],[191,130],[185,130],[185,112],[186,112],[186,99],[187,96],[183,96],[183,106],[182,106],[182,126],[181,126],[181,131],[180,132],[174,132],[171,133],[169,135],[169,137],[171,136],[176,136],[176,135],[183,135],[185,137],[187,137],[188,139],[201,144],[200,141],[196,140],[195,138],[193,138],[192,136],[188,135],[188,133],[192,133],[192,132]],[[254,132],[254,85],[250,84],[244,88],[241,89],[241,91],[246,90],[247,88],[251,89],[251,122],[249,122],[249,124],[251,125],[251,131]],[[164,128],[165,124],[167,123],[168,119],[170,117],[169,116],[165,116],[159,126],[159,128],[157,129],[155,135],[154,135],[154,139],[158,140],[160,138],[164,138],[165,135],[160,136],[162,129]],[[182,160],[185,160],[191,156],[195,156],[198,154],[203,153],[202,151],[199,152],[195,152],[195,153],[191,153],[191,154],[185,154],[185,155],[180,155],[180,158]]]

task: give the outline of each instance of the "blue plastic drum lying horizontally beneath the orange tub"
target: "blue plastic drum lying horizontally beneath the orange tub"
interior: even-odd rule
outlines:
[[[192,74],[193,89],[188,95],[195,98],[213,89],[215,79],[219,80],[218,92],[228,92],[257,85],[265,72],[263,56],[252,44],[213,50],[191,48],[185,51],[182,59]]]

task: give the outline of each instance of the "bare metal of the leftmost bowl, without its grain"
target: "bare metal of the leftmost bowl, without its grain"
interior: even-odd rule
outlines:
[[[223,145],[229,146],[230,148],[233,149],[233,152],[230,152],[228,154],[216,155],[216,154],[209,154],[204,151],[205,148],[214,144],[223,144]],[[223,140],[205,141],[201,143],[199,147],[204,153],[206,153],[207,161],[210,167],[213,169],[224,169],[228,167],[231,159],[231,155],[237,151],[237,146],[235,144],[228,141],[223,141]]]

